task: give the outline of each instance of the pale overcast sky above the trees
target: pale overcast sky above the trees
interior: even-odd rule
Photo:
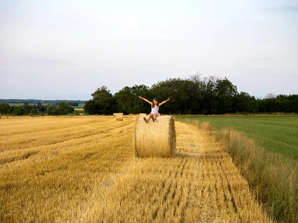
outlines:
[[[0,1],[0,99],[89,100],[197,72],[298,94],[298,0]]]

